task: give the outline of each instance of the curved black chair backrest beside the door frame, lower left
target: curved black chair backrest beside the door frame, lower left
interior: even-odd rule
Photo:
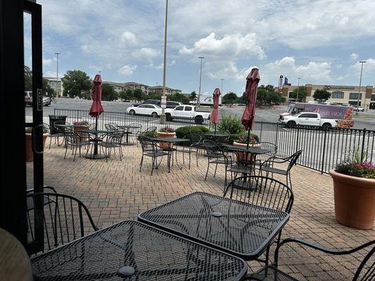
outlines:
[[[77,198],[50,193],[27,197],[27,248],[39,254],[98,230],[87,207]]]

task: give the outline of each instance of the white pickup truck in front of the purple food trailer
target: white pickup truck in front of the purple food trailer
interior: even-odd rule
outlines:
[[[281,117],[281,124],[286,126],[303,125],[303,126],[321,126],[323,129],[334,128],[337,126],[335,119],[321,118],[316,112],[301,112],[296,115]]]

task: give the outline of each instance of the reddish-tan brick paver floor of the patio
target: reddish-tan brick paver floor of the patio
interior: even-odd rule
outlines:
[[[69,151],[67,159],[63,159],[65,149],[52,145],[44,154],[44,183],[60,193],[82,200],[99,228],[118,221],[136,220],[141,211],[190,192],[222,195],[224,169],[218,168],[215,178],[214,169],[210,169],[205,181],[205,157],[199,158],[199,166],[195,164],[196,158],[192,157],[191,169],[185,162],[182,170],[173,166],[170,173],[167,172],[166,160],[163,160],[151,176],[151,159],[145,159],[143,170],[139,171],[140,146],[127,146],[123,151],[122,161],[118,155],[113,155],[108,163],[105,159],[84,157],[77,157],[73,162]],[[181,157],[179,161],[182,162]],[[31,171],[32,163],[28,163],[27,168]],[[30,174],[28,181],[32,183]],[[333,249],[348,249],[375,239],[375,228],[356,230],[335,221],[333,184],[329,175],[295,166],[292,181],[295,201],[290,221],[282,233],[283,238],[303,237]],[[291,244],[281,251],[279,262],[283,270],[300,280],[348,280],[363,256],[364,251],[351,256],[332,257]],[[249,264],[253,270],[259,266],[256,262]]]

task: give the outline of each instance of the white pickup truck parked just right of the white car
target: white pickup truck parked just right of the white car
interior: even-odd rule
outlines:
[[[179,105],[173,109],[165,109],[167,121],[172,119],[193,119],[196,124],[202,124],[203,120],[210,119],[210,112],[197,111],[194,105]]]

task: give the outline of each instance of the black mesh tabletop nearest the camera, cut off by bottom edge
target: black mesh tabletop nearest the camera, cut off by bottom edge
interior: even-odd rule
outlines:
[[[123,221],[32,259],[34,280],[240,280],[245,261],[165,233]],[[132,276],[117,270],[131,266]]]

